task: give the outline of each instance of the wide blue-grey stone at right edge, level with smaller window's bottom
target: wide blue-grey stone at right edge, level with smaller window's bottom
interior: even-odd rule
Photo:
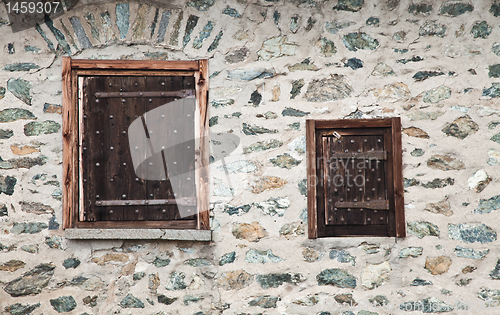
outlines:
[[[491,243],[496,241],[497,232],[484,223],[468,224],[448,224],[448,237],[452,240],[464,243]]]

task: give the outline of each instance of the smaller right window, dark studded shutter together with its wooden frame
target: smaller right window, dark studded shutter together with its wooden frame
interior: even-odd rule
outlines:
[[[398,136],[393,120],[308,121],[310,237],[404,236],[400,125]]]

